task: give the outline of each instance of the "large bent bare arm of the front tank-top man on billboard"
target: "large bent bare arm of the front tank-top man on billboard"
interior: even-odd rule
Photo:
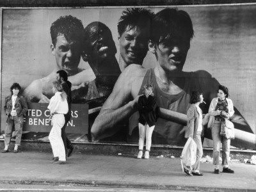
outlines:
[[[92,125],[91,132],[94,139],[115,134],[118,131],[115,125],[128,119],[137,110],[139,96],[136,95],[144,76],[145,69],[140,65],[129,65],[125,68]]]

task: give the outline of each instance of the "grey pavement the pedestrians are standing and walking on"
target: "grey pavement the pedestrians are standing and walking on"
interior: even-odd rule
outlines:
[[[180,159],[136,159],[136,156],[79,154],[67,164],[52,164],[47,152],[0,153],[1,184],[67,184],[115,188],[145,188],[199,191],[256,191],[256,165],[232,163],[235,174],[213,172],[210,163],[201,163],[203,177],[188,176]],[[221,169],[222,171],[222,169]]]

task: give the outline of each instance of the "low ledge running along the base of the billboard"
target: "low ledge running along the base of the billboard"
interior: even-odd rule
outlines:
[[[11,141],[11,148],[14,147],[15,141]],[[86,154],[111,154],[116,155],[118,153],[125,154],[127,156],[136,156],[138,154],[138,144],[128,143],[93,143],[93,142],[73,142],[72,145],[76,148],[76,152]],[[0,139],[0,148],[4,147],[4,140]],[[183,147],[175,145],[152,145],[150,154],[152,156],[165,156],[165,157],[180,157]],[[40,152],[52,152],[49,141],[31,141],[22,140],[21,151],[40,151]],[[212,148],[204,147],[204,156],[212,156]],[[253,155],[256,155],[256,150],[241,150],[230,149],[230,157],[232,159],[250,159]]]

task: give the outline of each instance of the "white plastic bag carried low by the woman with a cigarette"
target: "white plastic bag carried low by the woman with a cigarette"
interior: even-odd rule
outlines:
[[[188,138],[180,158],[182,163],[188,167],[196,163],[196,143],[191,137]]]

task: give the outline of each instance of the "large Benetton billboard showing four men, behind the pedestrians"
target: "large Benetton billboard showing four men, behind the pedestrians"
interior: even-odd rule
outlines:
[[[1,134],[12,83],[37,103],[30,104],[31,113],[49,102],[52,81],[63,69],[82,126],[68,131],[71,141],[138,143],[138,95],[152,84],[159,107],[152,144],[183,146],[191,92],[204,92],[206,114],[223,84],[235,110],[231,144],[256,148],[256,4],[1,11]],[[175,20],[182,14],[191,22]],[[31,125],[24,125],[24,138],[49,131]],[[206,126],[204,145],[212,145]]]

